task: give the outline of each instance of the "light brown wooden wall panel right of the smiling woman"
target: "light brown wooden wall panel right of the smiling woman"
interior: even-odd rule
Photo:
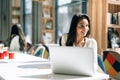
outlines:
[[[106,27],[105,20],[105,1],[106,0],[89,0],[89,16],[91,19],[91,36],[96,39],[98,44],[98,53],[106,49]]]

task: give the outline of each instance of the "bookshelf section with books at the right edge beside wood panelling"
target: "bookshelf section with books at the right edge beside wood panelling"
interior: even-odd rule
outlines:
[[[117,28],[120,28],[120,0],[107,0],[106,5],[107,5],[106,23],[108,24],[106,25],[107,48],[119,47],[118,46],[119,44],[117,44],[117,41],[114,41],[114,44],[113,44],[113,37],[111,37],[111,35],[115,34],[116,31],[118,31]],[[113,28],[113,29],[109,29],[109,28]]]

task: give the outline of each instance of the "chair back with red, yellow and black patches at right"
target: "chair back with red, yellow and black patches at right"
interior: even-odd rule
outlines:
[[[103,62],[110,77],[120,80],[120,53],[110,50],[103,51]]]

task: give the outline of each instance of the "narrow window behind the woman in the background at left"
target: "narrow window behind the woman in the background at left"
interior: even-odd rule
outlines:
[[[23,25],[25,27],[26,40],[29,41],[32,38],[32,0],[24,0],[23,3]]]

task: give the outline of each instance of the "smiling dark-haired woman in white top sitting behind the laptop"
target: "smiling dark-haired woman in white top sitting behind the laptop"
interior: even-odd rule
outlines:
[[[90,36],[90,19],[84,14],[75,14],[72,18],[69,32],[61,37],[62,46],[90,47],[94,49],[97,58],[97,42]],[[99,58],[100,59],[100,58]],[[95,61],[97,63],[97,61]]]

